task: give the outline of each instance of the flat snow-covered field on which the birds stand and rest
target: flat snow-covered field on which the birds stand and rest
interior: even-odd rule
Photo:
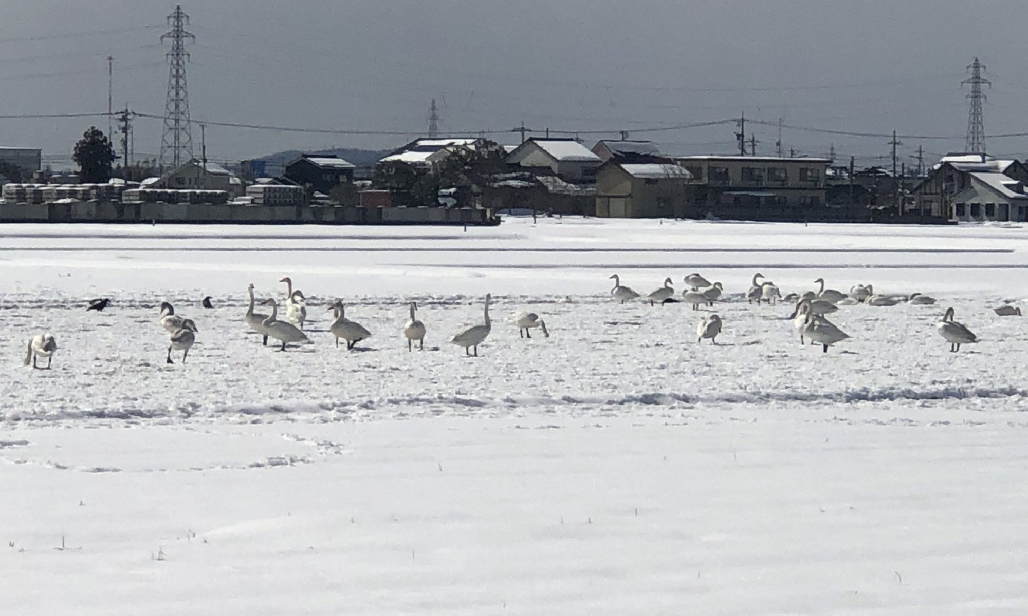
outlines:
[[[0,612],[1025,614],[1028,230],[0,226]],[[698,271],[706,312],[615,303]],[[845,307],[801,346],[783,293]],[[262,347],[246,285],[307,296]],[[480,357],[446,343],[494,303]],[[199,306],[204,296],[216,306]],[[570,296],[572,303],[564,301]],[[85,300],[112,306],[85,312]],[[329,306],[373,336],[335,348]],[[199,329],[164,363],[157,306]],[[429,337],[400,334],[417,301]],[[935,333],[946,307],[982,339]],[[506,319],[529,309],[538,330]],[[49,330],[53,370],[22,365]],[[181,354],[179,354],[179,357]],[[56,549],[62,547],[65,549]]]

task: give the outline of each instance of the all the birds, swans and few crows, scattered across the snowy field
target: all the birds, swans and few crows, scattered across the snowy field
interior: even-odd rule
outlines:
[[[618,274],[611,276],[614,280],[614,287],[611,296],[621,304],[636,299],[642,299],[651,306],[660,304],[685,303],[692,306],[693,310],[699,310],[700,306],[713,306],[722,300],[724,286],[721,282],[710,282],[699,273],[692,273],[686,276],[683,281],[686,288],[682,293],[681,299],[674,295],[673,280],[665,278],[663,285],[647,295],[646,297],[635,293],[632,288],[621,284]],[[303,292],[293,288],[293,280],[289,277],[282,278],[280,282],[287,285],[286,297],[283,302],[284,314],[280,319],[279,302],[273,298],[268,298],[260,302],[261,306],[269,306],[270,314],[255,312],[257,300],[254,285],[251,283],[247,287],[250,296],[250,304],[244,314],[243,320],[247,325],[262,338],[262,343],[267,346],[268,339],[273,339],[280,343],[279,351],[285,351],[290,344],[309,342],[310,339],[304,332],[304,323],[307,320],[306,297]],[[839,326],[833,323],[828,315],[833,314],[844,306],[865,304],[868,306],[895,306],[901,303],[930,306],[935,304],[935,299],[922,294],[911,294],[909,296],[881,295],[875,292],[871,284],[857,284],[843,293],[835,288],[828,288],[823,278],[817,278],[814,283],[818,284],[817,291],[808,291],[803,294],[790,294],[782,297],[778,286],[768,280],[760,272],[754,274],[749,288],[742,296],[749,304],[795,304],[795,309],[788,318],[800,336],[800,343],[816,344],[821,346],[823,352],[828,352],[829,347],[849,338]],[[489,337],[492,331],[492,320],[489,318],[489,305],[491,295],[485,296],[483,308],[483,319],[481,323],[467,326],[449,340],[458,347],[463,347],[466,355],[478,356],[478,346]],[[564,303],[574,302],[571,298],[562,300]],[[110,305],[109,299],[97,299],[89,302],[86,310],[104,310]],[[204,298],[201,305],[204,308],[213,308],[211,298]],[[414,345],[420,350],[425,349],[425,338],[428,328],[425,322],[417,318],[417,303],[410,302],[409,318],[401,330],[407,341],[407,350],[412,351]],[[328,331],[335,339],[335,346],[339,346],[339,341],[346,343],[346,349],[352,350],[357,343],[371,337],[371,332],[361,323],[346,317],[346,307],[342,301],[337,301],[328,307],[333,312],[333,321]],[[999,316],[1020,316],[1021,309],[1009,305],[1003,305],[993,309]],[[511,321],[518,329],[521,338],[531,338],[531,330],[539,329],[543,336],[549,338],[550,332],[543,318],[535,312],[519,312],[511,317]],[[160,304],[158,316],[159,324],[169,334],[167,363],[174,363],[172,353],[182,351],[182,362],[186,361],[189,349],[196,341],[199,333],[195,321],[185,318],[175,312],[175,308],[169,302]],[[963,323],[954,318],[953,308],[946,310],[943,318],[935,323],[939,334],[950,344],[950,351],[957,352],[960,346],[978,342],[978,337]],[[723,329],[723,321],[717,313],[708,313],[696,324],[696,341],[710,340],[712,344],[718,344],[717,338]],[[25,365],[32,365],[37,370],[48,370],[53,360],[53,354],[58,349],[56,338],[50,333],[39,334],[29,340],[25,355]],[[40,367],[39,359],[46,359],[46,365]]]

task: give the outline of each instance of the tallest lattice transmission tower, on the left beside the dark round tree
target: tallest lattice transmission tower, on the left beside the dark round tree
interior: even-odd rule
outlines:
[[[160,138],[160,164],[171,163],[178,167],[183,161],[192,159],[192,136],[189,130],[189,90],[186,87],[186,63],[189,52],[186,41],[196,37],[186,32],[189,15],[181,6],[168,15],[171,31],[160,37],[160,42],[171,41],[168,52],[168,100],[164,103],[164,130]]]

